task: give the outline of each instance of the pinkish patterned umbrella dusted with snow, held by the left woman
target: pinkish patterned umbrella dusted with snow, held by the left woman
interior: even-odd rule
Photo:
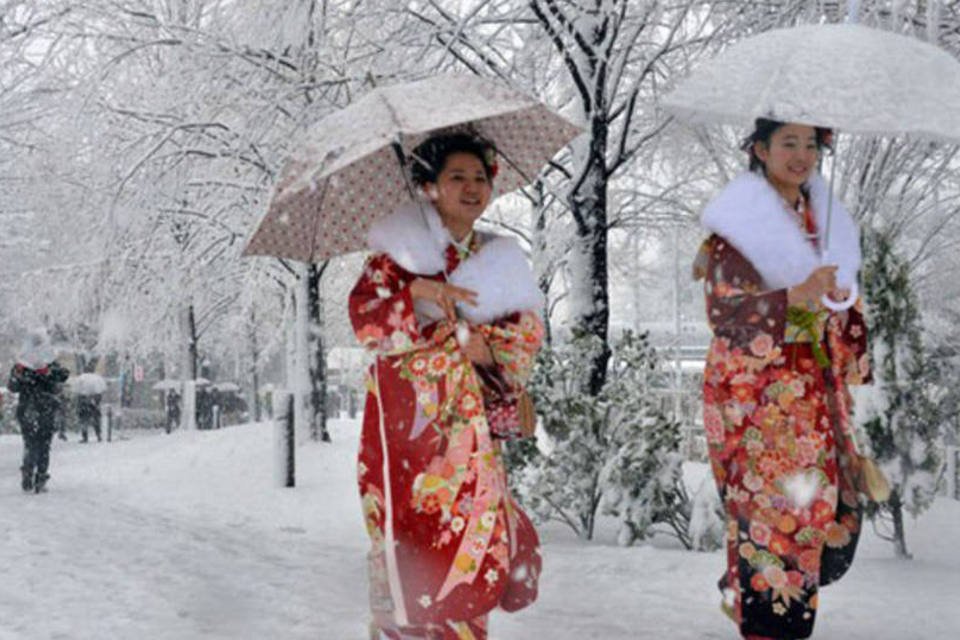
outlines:
[[[446,75],[375,89],[307,131],[244,255],[319,262],[363,249],[373,221],[410,199],[398,155],[431,134],[459,129],[497,147],[500,194],[532,182],[582,132],[486,78]]]

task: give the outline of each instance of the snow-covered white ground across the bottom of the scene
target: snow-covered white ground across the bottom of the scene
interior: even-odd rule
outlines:
[[[266,424],[56,441],[39,496],[20,491],[19,437],[0,436],[0,640],[363,640],[357,428],[300,447],[296,489],[274,486]],[[719,553],[542,534],[540,600],[494,614],[492,638],[738,637],[718,609]],[[867,531],[821,597],[816,638],[958,637],[960,502],[938,501],[908,544],[916,558],[898,561]]]

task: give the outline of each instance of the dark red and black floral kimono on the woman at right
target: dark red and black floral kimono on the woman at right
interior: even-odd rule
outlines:
[[[818,589],[850,566],[861,510],[837,451],[849,433],[847,385],[869,381],[859,307],[821,319],[831,368],[816,363],[810,337],[787,322],[786,289],[762,277],[713,235],[695,265],[705,279],[714,338],[704,371],[704,427],[727,514],[725,604],[744,636],[806,638]],[[826,333],[823,333],[823,332]],[[846,438],[844,442],[849,442]]]

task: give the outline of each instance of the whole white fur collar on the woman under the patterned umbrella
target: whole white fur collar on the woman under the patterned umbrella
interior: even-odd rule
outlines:
[[[434,275],[446,268],[453,241],[440,214],[427,203],[408,203],[376,221],[367,235],[370,248],[388,254],[411,273]],[[480,234],[479,251],[461,262],[447,280],[477,292],[477,306],[460,305],[460,315],[474,324],[489,323],[518,311],[539,312],[540,288],[520,245],[513,238]],[[418,300],[422,323],[443,317],[435,304]]]

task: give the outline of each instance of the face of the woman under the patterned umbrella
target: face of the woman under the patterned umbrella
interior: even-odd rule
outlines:
[[[444,224],[451,231],[466,233],[487,208],[493,185],[480,158],[457,152],[447,156],[436,184],[428,182],[424,189]]]

